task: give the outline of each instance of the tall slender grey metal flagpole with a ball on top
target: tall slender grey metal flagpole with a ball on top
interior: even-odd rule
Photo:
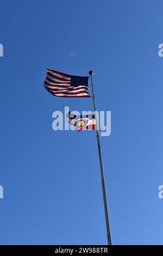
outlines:
[[[91,77],[91,85],[92,85],[92,94],[93,94],[93,106],[96,114],[96,103],[95,103],[95,95],[93,90],[93,81],[92,81],[92,75],[93,71],[89,71],[90,77]],[[96,118],[97,120],[97,118]],[[98,124],[96,124],[98,125]],[[106,188],[105,188],[105,180],[104,180],[104,172],[103,172],[103,162],[102,162],[102,154],[101,154],[101,144],[99,139],[99,130],[97,127],[96,130],[97,133],[97,145],[98,145],[98,154],[99,154],[99,164],[101,169],[101,181],[102,181],[102,190],[103,190],[103,200],[104,200],[104,209],[105,209],[105,221],[106,221],[106,230],[107,230],[107,239],[108,239],[108,245],[112,245],[111,241],[111,233],[110,233],[110,224],[109,224],[109,214],[108,214],[108,203],[106,198]]]

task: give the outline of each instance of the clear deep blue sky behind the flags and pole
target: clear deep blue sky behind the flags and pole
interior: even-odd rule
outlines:
[[[95,131],[53,131],[52,113],[93,110],[54,97],[46,69],[92,69],[114,245],[163,244],[162,1],[1,1],[0,243],[104,245]],[[76,56],[71,57],[71,53]]]

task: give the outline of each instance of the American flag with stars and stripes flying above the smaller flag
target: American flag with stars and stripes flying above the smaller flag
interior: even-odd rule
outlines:
[[[88,79],[89,76],[71,76],[47,69],[43,86],[49,93],[58,97],[90,97]]]

